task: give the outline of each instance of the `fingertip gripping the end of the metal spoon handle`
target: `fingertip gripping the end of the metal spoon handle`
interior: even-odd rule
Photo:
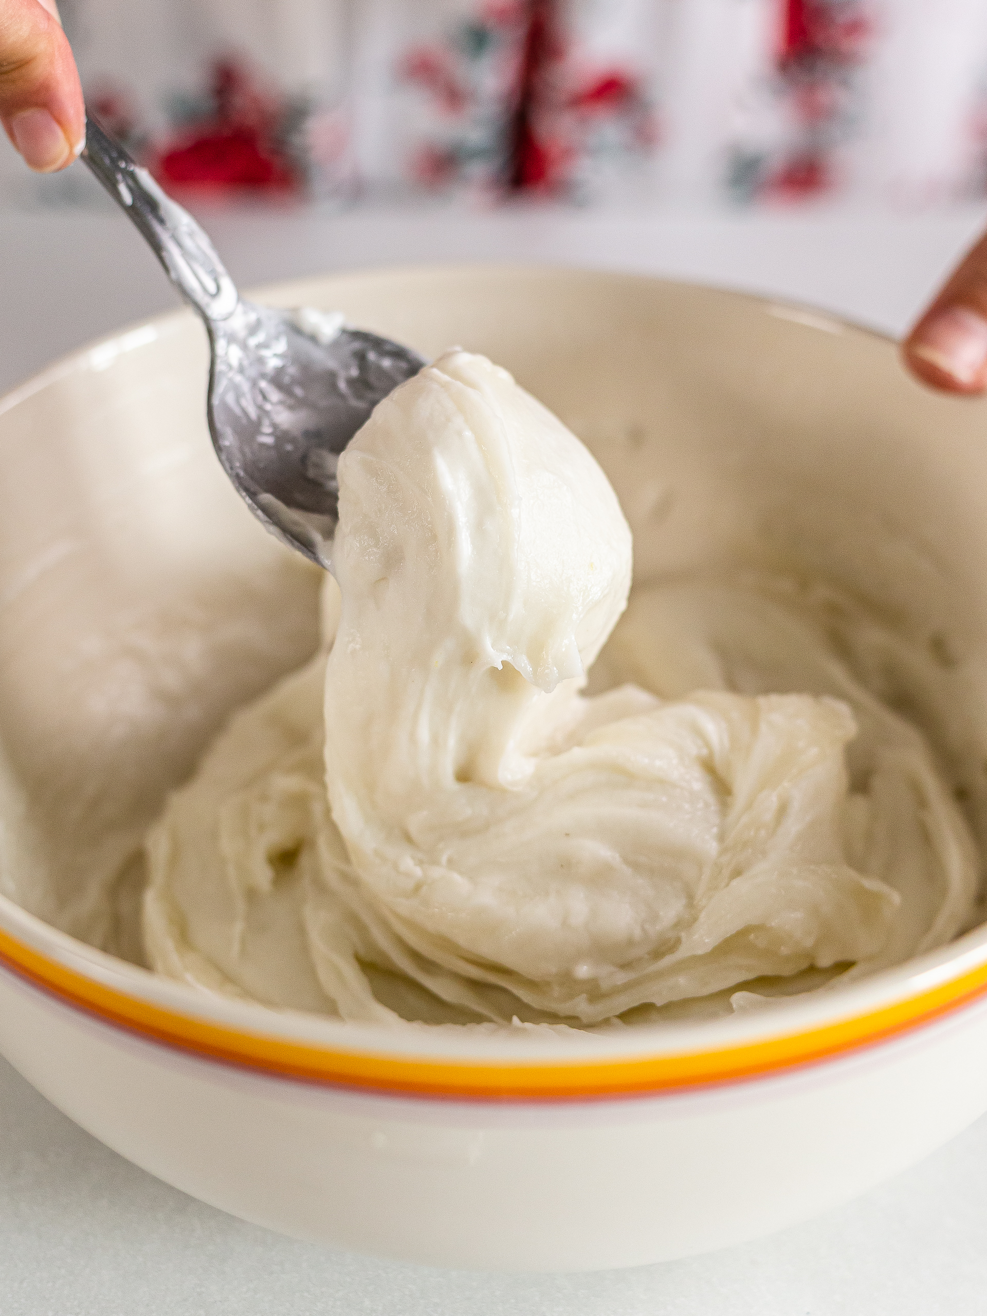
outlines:
[[[54,0],[0,0],[0,122],[42,172],[82,150],[86,107]]]

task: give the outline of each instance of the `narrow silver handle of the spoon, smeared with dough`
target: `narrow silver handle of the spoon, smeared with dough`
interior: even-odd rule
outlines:
[[[240,296],[209,238],[91,116],[82,159],[130,216],[167,276],[207,324],[233,315]]]

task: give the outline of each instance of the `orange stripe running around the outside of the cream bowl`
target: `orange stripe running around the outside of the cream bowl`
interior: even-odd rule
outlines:
[[[987,992],[987,965],[980,965],[892,1005],[761,1042],[632,1059],[461,1063],[345,1051],[209,1024],[93,982],[3,930],[0,963],[107,1023],[224,1063],[333,1087],[484,1101],[591,1100],[736,1083],[874,1045]]]

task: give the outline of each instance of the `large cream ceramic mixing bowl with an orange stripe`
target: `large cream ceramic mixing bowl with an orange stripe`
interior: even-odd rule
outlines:
[[[630,445],[617,492],[638,575],[783,550],[930,644],[962,654],[987,640],[987,411],[921,391],[876,336],[553,270],[267,295],[340,308],[425,354],[490,354],[604,467]],[[139,824],[229,707],[315,642],[312,572],[212,455],[205,365],[201,329],[178,313],[0,403],[0,734],[25,791],[22,816],[4,819],[0,891],[38,800],[70,857],[74,828]],[[711,488],[730,508],[716,524]],[[216,633],[209,600],[230,591],[243,626]],[[178,638],[130,661],[149,616]],[[271,626],[276,662],[251,641]],[[196,695],[180,707],[166,697],[178,661]],[[147,683],[154,699],[130,697]],[[107,772],[112,790],[93,791]],[[822,1211],[987,1108],[983,929],[722,1021],[551,1042],[391,1034],[197,995],[55,930],[38,915],[64,921],[76,859],[33,913],[0,898],[0,1050],[122,1155],[301,1238],[449,1266],[654,1262]]]

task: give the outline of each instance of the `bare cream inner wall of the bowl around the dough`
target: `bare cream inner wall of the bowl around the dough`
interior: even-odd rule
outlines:
[[[611,476],[636,582],[738,563],[821,574],[955,672],[957,707],[983,665],[987,404],[921,390],[888,341],[758,299],[563,270],[350,275],[266,300],[511,370]],[[320,574],[213,457],[207,365],[199,324],[176,313],[0,403],[0,892],[138,962],[128,857],[229,711],[317,634]],[[944,753],[987,742],[987,709],[963,716],[986,725],[951,732]],[[987,791],[987,763],[973,770]]]

